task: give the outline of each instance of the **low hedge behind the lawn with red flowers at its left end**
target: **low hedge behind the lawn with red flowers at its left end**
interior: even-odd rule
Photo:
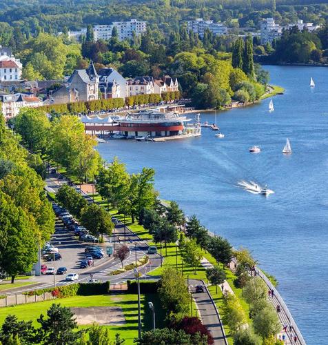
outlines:
[[[92,296],[104,295],[110,292],[110,282],[105,283],[77,283],[70,285],[57,286],[56,288],[43,288],[40,290],[32,290],[25,295],[40,296],[43,293],[51,293],[57,298],[74,297],[74,296]]]

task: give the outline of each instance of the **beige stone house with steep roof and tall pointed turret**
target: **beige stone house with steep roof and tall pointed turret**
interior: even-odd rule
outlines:
[[[68,81],[55,90],[47,104],[94,101],[99,98],[99,75],[92,61],[85,70],[74,70]]]

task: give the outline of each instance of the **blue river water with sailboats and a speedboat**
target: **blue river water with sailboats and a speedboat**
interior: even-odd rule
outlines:
[[[328,328],[328,68],[265,66],[285,95],[255,106],[206,112],[225,134],[203,128],[202,137],[163,143],[110,141],[130,172],[156,170],[161,198],[178,201],[212,232],[252,250],[260,267],[276,276],[307,344],[327,344]],[[316,87],[310,89],[314,78]],[[326,114],[326,115],[325,115]],[[283,155],[286,138],[292,155]],[[260,145],[252,154],[249,146]],[[238,188],[254,181],[274,190],[265,198]]]

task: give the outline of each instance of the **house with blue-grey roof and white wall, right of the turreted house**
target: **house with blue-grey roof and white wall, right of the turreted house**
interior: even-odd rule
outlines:
[[[112,98],[121,97],[125,98],[127,97],[127,80],[119,74],[114,68],[101,68],[98,72],[99,75],[99,88],[102,89],[104,92],[107,88],[112,88],[114,86],[114,89],[110,93],[112,93]],[[110,84],[114,83],[113,86]],[[115,86],[117,84],[117,86]],[[106,88],[106,89],[105,89]],[[103,92],[101,90],[101,92]],[[111,97],[105,97],[105,98],[111,98]]]

